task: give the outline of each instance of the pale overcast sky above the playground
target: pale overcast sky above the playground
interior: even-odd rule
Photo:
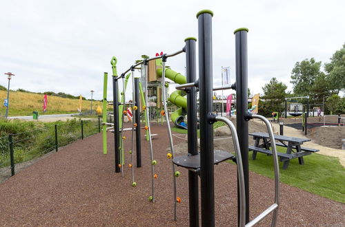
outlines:
[[[101,99],[103,72],[118,58],[119,74],[141,54],[171,53],[197,37],[196,13],[213,17],[213,78],[221,66],[235,78],[235,36],[248,33],[248,87],[276,77],[288,85],[297,61],[328,62],[345,42],[345,1],[1,1],[0,72],[16,74],[11,89],[65,92]],[[184,74],[185,55],[167,65]],[[109,76],[110,78],[110,76]],[[111,80],[110,80],[111,81]],[[7,87],[6,75],[0,85]],[[112,97],[112,85],[108,96]],[[131,89],[131,86],[129,87]],[[228,94],[226,92],[225,94]],[[112,98],[108,98],[111,100]]]

